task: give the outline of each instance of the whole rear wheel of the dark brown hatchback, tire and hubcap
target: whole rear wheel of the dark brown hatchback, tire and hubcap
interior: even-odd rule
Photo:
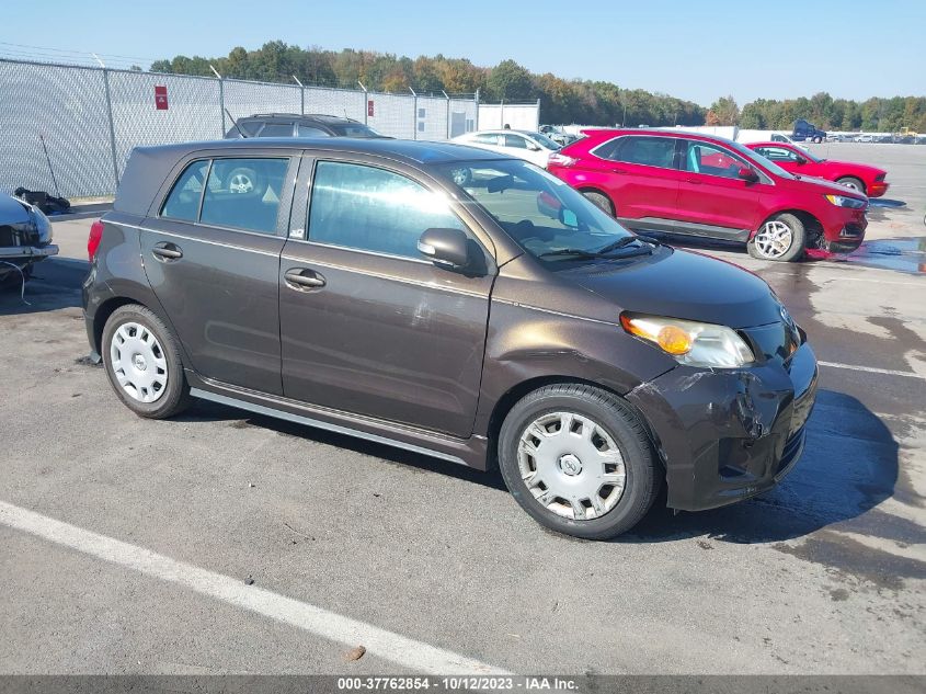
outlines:
[[[100,351],[110,385],[139,417],[164,419],[190,406],[180,345],[149,309],[129,304],[114,310]]]

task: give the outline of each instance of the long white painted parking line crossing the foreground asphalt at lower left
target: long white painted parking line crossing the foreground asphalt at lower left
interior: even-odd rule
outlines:
[[[240,579],[207,571],[170,557],[98,535],[69,523],[0,501],[0,524],[70,547],[85,555],[176,583],[203,595],[250,610],[345,646],[427,674],[508,674],[478,660],[393,634]]]

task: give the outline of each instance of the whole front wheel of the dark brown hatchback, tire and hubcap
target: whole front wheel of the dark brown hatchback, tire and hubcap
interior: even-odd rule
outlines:
[[[633,527],[661,480],[655,451],[630,408],[582,384],[546,386],[519,400],[502,424],[499,465],[528,514],[585,539]]]

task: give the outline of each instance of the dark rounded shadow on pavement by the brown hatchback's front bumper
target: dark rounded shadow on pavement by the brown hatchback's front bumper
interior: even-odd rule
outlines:
[[[736,544],[769,543],[832,525],[894,542],[924,542],[924,531],[917,524],[876,509],[894,496],[910,501],[915,491],[899,485],[898,443],[873,412],[851,396],[820,390],[807,426],[803,455],[771,491],[699,513],[674,515],[665,508],[654,508],[637,528],[616,542],[709,537]]]

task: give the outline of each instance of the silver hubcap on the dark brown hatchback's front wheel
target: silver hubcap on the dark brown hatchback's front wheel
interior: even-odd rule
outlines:
[[[597,519],[614,509],[627,480],[614,437],[575,412],[552,412],[530,422],[521,434],[517,465],[537,501],[576,521]]]

